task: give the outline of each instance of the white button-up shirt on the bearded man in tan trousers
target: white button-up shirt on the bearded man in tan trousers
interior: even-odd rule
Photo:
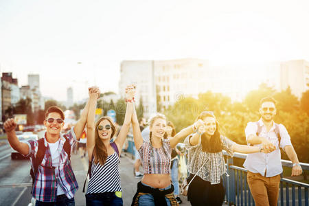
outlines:
[[[280,145],[278,146],[279,139],[277,138],[277,135],[275,133],[275,122],[273,124],[273,127],[269,131],[267,131],[266,126],[264,126],[262,119],[259,120],[259,124],[262,127],[259,137],[271,141],[271,143],[276,146],[276,150],[268,154],[265,154],[263,152],[248,154],[246,161],[244,161],[244,168],[253,173],[260,173],[262,176],[264,176],[265,170],[267,171],[266,177],[276,176],[277,174],[281,174],[283,171],[279,146],[280,148],[284,148],[288,145],[291,146],[292,143],[290,142],[290,135],[288,135],[288,131],[286,130],[284,125],[279,124],[281,141]],[[246,140],[248,141],[249,135],[256,135],[257,131],[258,124],[256,124],[256,122],[249,122],[246,129],[244,130],[244,133],[246,133]]]

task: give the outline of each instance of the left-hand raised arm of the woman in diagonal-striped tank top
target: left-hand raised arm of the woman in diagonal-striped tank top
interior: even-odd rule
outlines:
[[[87,114],[87,152],[89,160],[92,158],[95,146],[95,109],[100,91],[89,89],[89,111]]]

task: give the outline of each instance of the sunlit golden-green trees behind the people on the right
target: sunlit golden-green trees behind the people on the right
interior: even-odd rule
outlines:
[[[288,87],[277,92],[266,84],[248,93],[243,102],[231,102],[230,98],[207,91],[194,98],[183,98],[164,111],[168,120],[172,121],[179,132],[182,128],[193,124],[201,111],[214,111],[220,124],[220,131],[238,144],[247,144],[244,129],[248,122],[260,119],[260,100],[272,96],[277,101],[275,122],[284,124],[299,161],[309,162],[309,91],[303,93],[301,101],[293,95]],[[282,158],[288,159],[282,152]]]

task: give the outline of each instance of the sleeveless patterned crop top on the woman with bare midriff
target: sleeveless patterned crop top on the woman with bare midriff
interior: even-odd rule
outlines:
[[[143,141],[139,155],[144,174],[170,174],[170,140],[163,139],[161,148],[153,148],[149,141]]]

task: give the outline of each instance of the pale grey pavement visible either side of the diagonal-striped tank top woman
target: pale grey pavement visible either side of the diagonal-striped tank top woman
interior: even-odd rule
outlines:
[[[124,205],[129,206],[137,190],[137,183],[141,181],[141,179],[136,179],[135,176],[133,176],[133,159],[130,154],[125,155],[125,152],[122,152],[119,169],[122,183],[122,198]],[[88,170],[88,157],[81,158],[80,155],[72,155],[71,162],[79,185],[78,192],[76,192],[75,195],[76,206],[84,206],[86,205],[86,199],[84,193],[82,193],[82,187],[84,186],[84,180],[86,179]],[[87,185],[85,190],[87,190]],[[181,196],[181,200],[183,201],[181,206],[190,205],[190,203],[187,202],[187,197]]]

